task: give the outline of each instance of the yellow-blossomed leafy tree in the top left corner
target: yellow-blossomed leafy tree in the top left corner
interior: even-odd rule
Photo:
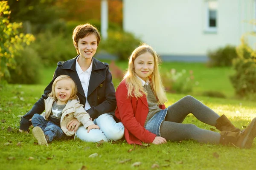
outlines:
[[[10,23],[10,14],[7,1],[0,1],[0,80],[15,68],[15,54],[35,40],[32,34],[20,33],[22,23]]]

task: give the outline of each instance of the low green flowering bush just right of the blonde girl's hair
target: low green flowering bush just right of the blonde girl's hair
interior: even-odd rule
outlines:
[[[169,72],[162,73],[161,77],[164,77],[162,79],[163,86],[170,93],[186,94],[192,92],[193,87],[199,84],[199,82],[195,82],[192,70],[189,73],[186,70],[177,72],[173,68]]]

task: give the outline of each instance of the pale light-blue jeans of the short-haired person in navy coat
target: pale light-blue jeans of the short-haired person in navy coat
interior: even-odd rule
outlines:
[[[88,133],[87,129],[81,126],[76,131],[76,137],[85,142],[99,142],[101,140],[108,142],[122,139],[124,136],[124,125],[121,122],[116,123],[109,113],[100,115],[93,120],[93,123],[98,125],[100,129],[91,129]]]

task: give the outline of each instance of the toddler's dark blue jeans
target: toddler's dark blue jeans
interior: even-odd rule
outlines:
[[[61,127],[58,127],[51,121],[45,120],[40,114],[35,114],[32,117],[31,122],[34,127],[41,127],[44,134],[49,137],[49,141],[47,142],[52,142],[53,139],[58,140],[66,137],[66,134],[61,130]]]

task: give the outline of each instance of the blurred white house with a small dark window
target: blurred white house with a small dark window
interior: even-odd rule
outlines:
[[[239,45],[255,18],[256,0],[123,0],[124,30],[166,59],[206,59],[208,50]]]

